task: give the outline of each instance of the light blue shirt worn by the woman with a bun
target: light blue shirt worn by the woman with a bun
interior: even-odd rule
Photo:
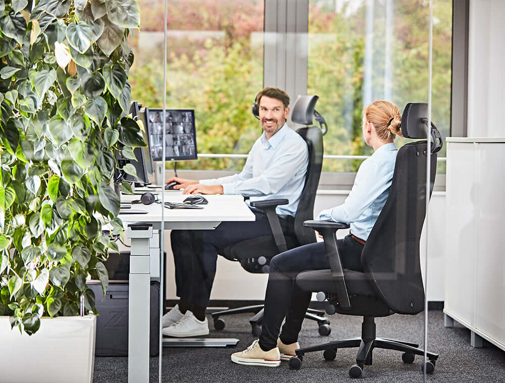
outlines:
[[[317,219],[350,223],[350,232],[366,241],[389,196],[397,152],[394,143],[377,149],[361,164],[344,203],[323,210]]]

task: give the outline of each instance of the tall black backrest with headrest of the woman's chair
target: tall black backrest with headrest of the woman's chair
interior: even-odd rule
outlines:
[[[426,104],[420,105],[424,108]],[[409,132],[407,121],[419,122],[418,116],[411,117],[403,113],[403,136],[426,137],[427,126],[424,134],[417,127]],[[427,155],[431,157],[431,197],[436,152],[427,153],[426,141],[406,144],[398,150],[388,199],[362,253],[363,269],[377,294],[392,311],[402,314],[416,314],[424,310],[419,245],[426,216]]]

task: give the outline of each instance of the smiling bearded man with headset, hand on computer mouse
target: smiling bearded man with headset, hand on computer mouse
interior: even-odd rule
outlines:
[[[256,96],[263,134],[247,155],[238,174],[200,181],[170,178],[184,194],[240,194],[250,201],[283,198],[288,205],[276,209],[285,233],[294,231],[294,215],[305,183],[308,149],[286,123],[289,96],[278,88],[265,88]],[[271,235],[266,215],[251,208],[254,222],[223,222],[214,230],[173,230],[172,251],[179,303],[163,316],[163,333],[173,337],[209,334],[205,311],[209,304],[220,250],[231,244]]]

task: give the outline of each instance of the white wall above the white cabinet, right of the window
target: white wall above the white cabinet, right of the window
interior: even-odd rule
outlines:
[[[471,0],[468,137],[503,137],[505,1]]]

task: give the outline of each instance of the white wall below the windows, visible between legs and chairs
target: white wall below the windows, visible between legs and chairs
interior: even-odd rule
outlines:
[[[343,203],[348,190],[319,190],[314,205],[315,214]],[[445,251],[445,192],[433,192],[428,211],[429,215],[429,258],[428,258],[428,300],[441,301],[444,296]],[[338,237],[344,237],[348,231],[340,230]],[[421,243],[423,243],[423,235]],[[167,252],[167,299],[176,299],[174,262],[170,247],[170,232],[165,231],[165,251]],[[425,247],[421,244],[421,263],[424,271]],[[214,280],[211,299],[224,300],[263,300],[267,286],[267,274],[251,274],[242,269],[238,262],[231,262],[218,257],[217,273]]]

